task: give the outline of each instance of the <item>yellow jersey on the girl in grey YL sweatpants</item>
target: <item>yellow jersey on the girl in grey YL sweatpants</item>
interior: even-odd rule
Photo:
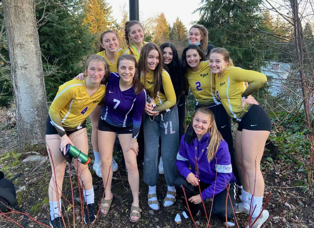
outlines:
[[[153,111],[163,111],[171,108],[176,104],[176,93],[173,88],[170,75],[166,70],[161,72],[162,86],[165,94],[158,91],[156,97],[153,97],[157,107]],[[151,94],[154,94],[154,71],[149,71],[146,74],[146,81],[144,81],[143,75],[141,75],[141,82],[145,86],[145,89]]]

